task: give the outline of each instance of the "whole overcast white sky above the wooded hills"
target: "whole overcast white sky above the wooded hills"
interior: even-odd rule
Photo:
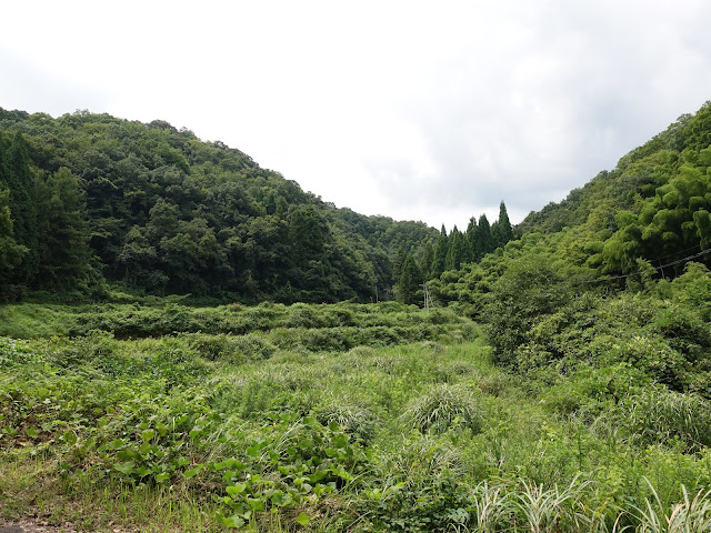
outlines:
[[[560,201],[711,99],[711,2],[6,2],[0,107],[162,119],[439,228]]]

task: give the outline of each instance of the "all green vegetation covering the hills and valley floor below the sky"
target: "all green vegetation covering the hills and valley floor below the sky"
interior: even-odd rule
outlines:
[[[710,128],[448,234],[162,122],[1,111],[0,512],[709,531]]]

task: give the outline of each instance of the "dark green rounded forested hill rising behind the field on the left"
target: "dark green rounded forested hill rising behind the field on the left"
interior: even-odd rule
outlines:
[[[0,109],[0,294],[368,301],[439,232],[336,209],[163,121]]]

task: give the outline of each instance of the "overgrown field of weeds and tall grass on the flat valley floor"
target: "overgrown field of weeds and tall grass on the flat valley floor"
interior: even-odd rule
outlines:
[[[6,519],[711,531],[709,400],[622,358],[509,374],[473,322],[394,303],[9,305],[0,334]]]

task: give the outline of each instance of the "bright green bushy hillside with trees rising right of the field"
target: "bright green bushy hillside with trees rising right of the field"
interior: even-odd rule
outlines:
[[[574,381],[623,364],[711,398],[710,144],[707,103],[443,272],[435,301],[487,324],[512,370]]]

